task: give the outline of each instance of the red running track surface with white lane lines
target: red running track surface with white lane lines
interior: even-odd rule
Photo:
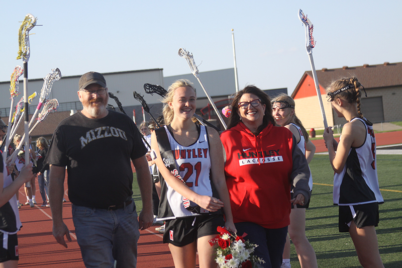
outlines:
[[[389,145],[402,143],[402,131],[375,134],[377,145]],[[316,152],[327,151],[324,140],[314,140]],[[38,185],[36,187],[36,199],[41,203]],[[65,183],[67,189],[67,182]],[[67,191],[65,198],[68,200]],[[20,202],[25,200],[23,188],[20,189]],[[50,208],[35,206],[30,208],[24,205],[20,209],[23,228],[18,233],[20,261],[19,267],[57,267],[57,268],[83,268],[85,267],[74,235],[74,226],[71,217],[71,203],[63,205],[63,218],[71,232],[72,242],[68,242],[68,248],[58,244],[52,235],[52,220]],[[152,226],[148,230],[141,231],[138,242],[137,266],[167,268],[174,267],[173,259],[167,244],[162,243],[162,236],[155,232]]]

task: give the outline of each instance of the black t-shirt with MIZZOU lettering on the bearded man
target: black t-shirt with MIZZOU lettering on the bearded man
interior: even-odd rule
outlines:
[[[67,166],[68,198],[73,204],[107,208],[131,197],[130,159],[146,152],[128,116],[109,111],[102,119],[89,119],[78,112],[55,130],[45,163]]]

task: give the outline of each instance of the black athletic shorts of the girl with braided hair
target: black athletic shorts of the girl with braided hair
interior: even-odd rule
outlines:
[[[348,223],[350,223],[352,220],[357,228],[372,225],[378,226],[378,203],[375,202],[364,205],[339,206],[339,232],[349,232]]]

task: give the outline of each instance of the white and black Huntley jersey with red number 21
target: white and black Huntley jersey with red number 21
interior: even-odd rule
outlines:
[[[200,126],[197,141],[189,146],[179,144],[168,130],[168,126],[164,126],[164,128],[170,142],[177,169],[185,184],[199,195],[217,197],[215,190],[215,195],[213,194],[213,186],[210,180],[211,157],[206,127]],[[173,190],[166,181],[161,180],[161,185],[162,191],[158,220],[205,215],[186,210],[183,206],[182,196]]]

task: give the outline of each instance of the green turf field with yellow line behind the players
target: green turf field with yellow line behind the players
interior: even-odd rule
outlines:
[[[379,206],[380,222],[376,230],[386,268],[402,267],[401,166],[402,155],[378,155],[377,171],[384,204]],[[349,233],[338,232],[338,207],[332,202],[334,172],[328,155],[315,155],[310,168],[314,186],[310,208],[306,211],[306,233],[316,251],[318,266],[361,267]],[[142,204],[136,182],[133,183],[133,191],[137,211],[140,211]],[[291,266],[300,267],[293,245]]]

